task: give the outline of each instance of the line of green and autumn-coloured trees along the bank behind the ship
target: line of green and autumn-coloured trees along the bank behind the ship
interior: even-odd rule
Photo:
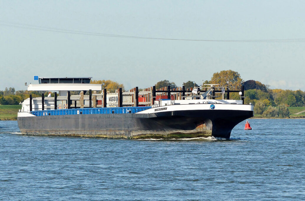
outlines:
[[[125,91],[124,84],[115,82],[113,80],[91,80],[92,84],[104,84],[104,88],[108,92],[113,93],[116,89],[122,88]],[[215,72],[210,80],[205,80],[203,84],[219,84],[220,87],[226,87],[230,90],[240,90],[241,86],[244,86],[245,90],[245,104],[250,102],[254,105],[255,114],[263,115],[265,111],[268,111],[268,115],[281,116],[287,115],[285,107],[304,107],[305,106],[305,92],[301,90],[282,90],[282,89],[270,89],[269,85],[263,84],[256,80],[244,81],[240,74],[232,70],[223,70]],[[156,89],[170,86],[170,88],[176,88],[178,85],[169,80],[161,80],[155,84]],[[199,85],[195,81],[188,80],[183,83],[185,88],[198,87]],[[30,94],[32,97],[40,97],[44,93],[45,96],[48,92],[42,91],[15,91],[14,88],[5,88],[0,90],[0,104],[5,105],[16,105],[27,99]],[[71,92],[72,95],[78,94],[79,92]],[[54,96],[52,94],[52,96]],[[224,94],[226,98],[226,94]],[[220,98],[220,97],[219,97]],[[238,93],[230,94],[230,99],[239,99]],[[269,107],[269,108],[267,108]],[[274,109],[276,107],[276,110]],[[263,110],[262,110],[263,108]],[[266,109],[267,108],[267,109]],[[285,111],[279,111],[281,110]],[[283,109],[284,108],[284,109]],[[265,116],[267,116],[265,112]]]

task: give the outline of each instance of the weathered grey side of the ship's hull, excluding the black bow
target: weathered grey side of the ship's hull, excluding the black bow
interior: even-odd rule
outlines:
[[[18,117],[21,133],[108,138],[211,136],[203,122],[181,117],[162,120],[154,114],[91,114]]]

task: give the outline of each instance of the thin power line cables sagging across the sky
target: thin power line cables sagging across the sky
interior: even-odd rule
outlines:
[[[84,32],[66,29],[57,29],[46,26],[36,26],[24,23],[16,23],[0,20],[0,26],[14,27],[20,29],[28,30],[39,30],[39,31],[49,31],[57,33],[71,33],[71,34],[81,34],[81,35],[93,35],[93,36],[104,36],[104,37],[120,37],[120,38],[137,38],[137,39],[152,39],[152,40],[174,40],[174,41],[205,41],[205,42],[246,42],[246,43],[291,43],[291,42],[305,42],[305,38],[297,39],[267,39],[267,40],[197,40],[197,39],[178,39],[178,38],[157,38],[157,37],[139,37],[139,36],[127,36],[127,35],[116,35],[107,33],[94,33],[94,32]]]

